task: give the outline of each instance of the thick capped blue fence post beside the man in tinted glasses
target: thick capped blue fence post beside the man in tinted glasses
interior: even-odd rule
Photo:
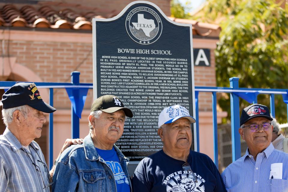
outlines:
[[[239,88],[239,78],[229,78],[230,87],[232,89]],[[231,106],[231,137],[232,137],[232,161],[236,161],[241,157],[241,143],[238,129],[240,128],[240,113],[239,113],[239,97],[234,93],[230,93]]]

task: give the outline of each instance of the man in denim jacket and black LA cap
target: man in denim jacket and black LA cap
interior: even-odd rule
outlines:
[[[126,116],[133,113],[116,96],[96,99],[88,118],[89,134],[83,145],[70,147],[60,156],[52,190],[129,192],[129,159],[114,145],[123,134]]]

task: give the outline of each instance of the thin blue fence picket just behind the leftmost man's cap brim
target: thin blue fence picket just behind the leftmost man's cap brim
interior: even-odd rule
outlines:
[[[53,88],[49,88],[49,105],[53,107]],[[49,167],[53,166],[53,113],[49,113]]]

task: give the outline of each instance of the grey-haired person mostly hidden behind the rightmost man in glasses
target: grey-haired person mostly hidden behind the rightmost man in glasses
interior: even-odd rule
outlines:
[[[274,148],[288,153],[288,138],[285,138],[283,134],[280,133],[280,125],[275,118],[273,118],[271,123],[273,125],[272,144]]]

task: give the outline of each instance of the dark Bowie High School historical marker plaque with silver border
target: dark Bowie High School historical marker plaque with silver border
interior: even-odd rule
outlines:
[[[162,149],[157,123],[164,107],[179,104],[195,114],[192,26],[148,1],[92,22],[94,99],[116,95],[133,111],[116,145],[140,161]]]

